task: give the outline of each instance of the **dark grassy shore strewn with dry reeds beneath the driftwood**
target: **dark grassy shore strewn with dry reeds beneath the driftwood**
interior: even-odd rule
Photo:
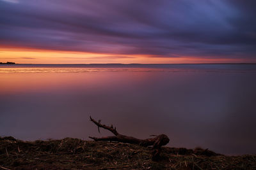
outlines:
[[[163,147],[154,161],[152,147],[129,143],[0,137],[0,169],[256,169],[256,155]]]

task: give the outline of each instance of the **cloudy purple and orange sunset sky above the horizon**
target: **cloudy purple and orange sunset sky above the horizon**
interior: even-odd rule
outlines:
[[[256,62],[256,1],[0,0],[0,62]]]

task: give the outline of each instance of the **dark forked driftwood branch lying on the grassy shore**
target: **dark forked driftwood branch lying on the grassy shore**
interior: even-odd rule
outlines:
[[[133,138],[131,136],[125,136],[125,135],[119,134],[116,131],[116,127],[114,128],[113,125],[111,125],[110,127],[108,125],[103,125],[100,123],[101,120],[99,120],[97,122],[92,117],[90,117],[90,120],[95,125],[97,125],[99,132],[100,132],[99,128],[102,127],[103,129],[107,129],[108,131],[115,134],[115,136],[107,136],[107,137],[102,137],[102,138],[95,138],[95,137],[89,136],[89,138],[93,139],[94,141],[118,141],[118,142],[122,142],[122,143],[132,143],[132,144],[137,144],[137,145],[146,146],[146,147],[153,146],[153,148],[154,148],[154,152],[152,153],[153,160],[159,159],[159,154],[161,152],[161,146],[166,145],[170,141],[168,136],[166,136],[165,134],[160,134],[159,136],[156,136],[155,138],[148,138],[148,139],[138,139],[138,138]]]

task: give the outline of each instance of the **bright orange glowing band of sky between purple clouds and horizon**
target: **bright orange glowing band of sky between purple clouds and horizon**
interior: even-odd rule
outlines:
[[[210,59],[203,57],[154,57],[154,55],[111,54],[72,52],[60,50],[42,50],[36,48],[0,47],[0,62],[16,62],[19,64],[189,64],[189,63],[237,63],[252,62],[245,59]],[[255,62],[253,60],[253,62]]]

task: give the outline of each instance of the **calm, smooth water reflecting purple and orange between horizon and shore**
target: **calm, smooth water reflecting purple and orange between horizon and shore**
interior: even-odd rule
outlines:
[[[0,136],[108,136],[89,116],[168,146],[256,153],[256,65],[0,66]]]

